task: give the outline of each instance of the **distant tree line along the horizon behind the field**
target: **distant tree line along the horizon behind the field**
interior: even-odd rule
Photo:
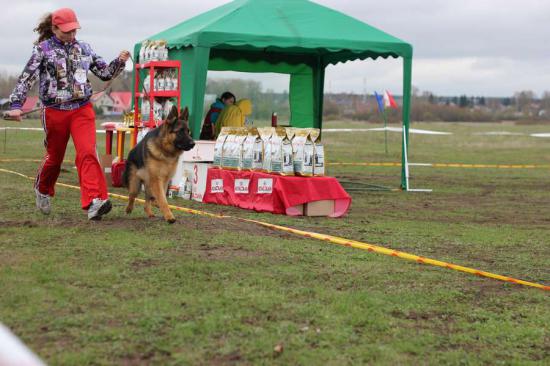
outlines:
[[[94,90],[101,90],[105,82],[90,74]],[[8,97],[17,76],[0,72],[0,98]],[[109,90],[130,91],[132,73],[124,71],[116,78]],[[248,98],[253,103],[252,119],[269,120],[277,112],[281,121],[290,116],[289,95],[287,91],[276,93],[264,90],[261,82],[244,79],[212,79],[206,85],[206,93],[221,95],[231,91],[237,99]],[[182,91],[185,93],[185,91]],[[36,95],[36,85],[30,95]],[[394,95],[399,108],[388,110],[388,121],[401,120],[402,97]],[[208,106],[205,106],[205,108]],[[373,95],[353,93],[325,93],[323,102],[324,119],[353,119],[361,121],[380,121],[376,99]],[[413,121],[463,121],[483,122],[501,120],[550,121],[550,91],[538,97],[533,91],[522,90],[508,97],[487,96],[438,96],[429,91],[421,92],[413,87],[411,103]]]

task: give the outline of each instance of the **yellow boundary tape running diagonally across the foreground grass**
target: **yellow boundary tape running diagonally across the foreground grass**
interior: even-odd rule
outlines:
[[[0,168],[0,172],[14,174],[14,175],[18,175],[18,176],[21,176],[21,177],[24,177],[24,178],[27,178],[27,179],[30,179],[30,180],[34,180],[34,178],[32,178],[32,177],[29,177],[29,176],[26,176],[24,174],[14,172],[14,171],[11,171],[11,170],[7,170],[7,169],[1,169]],[[80,190],[79,187],[73,186],[73,185],[70,185],[70,184],[57,183],[57,185],[59,185],[61,187]],[[119,199],[119,200],[123,200],[123,201],[128,200],[127,196],[123,196],[123,195],[120,195],[120,194],[109,193],[109,195],[111,197]],[[136,199],[136,201],[138,201],[140,203],[145,202],[143,199]],[[398,251],[398,250],[388,249],[388,248],[384,248],[384,247],[374,245],[374,244],[363,243],[363,242],[360,242],[360,241],[340,238],[340,237],[332,236],[332,235],[325,235],[325,234],[319,234],[319,233],[310,232],[310,231],[292,229],[292,228],[289,228],[289,227],[286,227],[286,226],[274,225],[274,224],[270,224],[270,223],[263,222],[263,221],[258,221],[258,220],[244,219],[244,218],[235,217],[235,216],[228,216],[228,215],[218,215],[218,214],[213,214],[213,213],[206,212],[206,211],[194,210],[194,209],[191,209],[191,208],[185,208],[185,207],[180,207],[180,206],[175,206],[175,205],[168,205],[168,206],[173,210],[186,212],[186,213],[193,214],[193,215],[209,216],[209,217],[214,217],[214,218],[218,218],[218,219],[233,218],[233,219],[237,219],[239,221],[258,224],[258,225],[261,225],[261,226],[264,226],[264,227],[267,227],[267,228],[270,228],[270,229],[285,231],[285,232],[292,233],[292,234],[299,235],[299,236],[303,236],[303,237],[306,237],[306,238],[322,240],[322,241],[325,241],[325,242],[329,242],[331,244],[336,244],[336,245],[341,245],[341,246],[346,246],[346,247],[352,247],[352,248],[367,250],[369,252],[375,252],[375,253],[384,254],[384,255],[388,255],[388,256],[392,256],[392,257],[406,259],[406,260],[409,260],[409,261],[414,261],[414,262],[417,262],[419,264],[429,264],[429,265],[432,265],[432,266],[448,268],[448,269],[452,269],[452,270],[455,270],[455,271],[469,273],[469,274],[473,274],[473,275],[480,276],[480,277],[492,278],[492,279],[499,280],[499,281],[514,283],[514,284],[523,285],[523,286],[534,287],[534,288],[538,288],[538,289],[541,289],[541,290],[544,290],[544,291],[550,291],[550,286],[542,285],[542,284],[539,284],[539,283],[519,280],[519,279],[516,279],[516,278],[513,278],[513,277],[502,276],[502,275],[491,273],[491,272],[480,271],[478,269],[464,267],[464,266],[460,266],[460,265],[452,264],[452,263],[447,263],[447,262],[439,261],[439,260],[436,260],[436,259],[431,259],[431,258],[418,256],[418,255],[415,255],[415,254],[409,254],[409,253],[401,252],[401,251]]]

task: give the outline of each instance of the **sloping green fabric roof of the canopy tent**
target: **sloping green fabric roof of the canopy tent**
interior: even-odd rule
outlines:
[[[318,54],[327,63],[412,57],[412,46],[355,18],[307,0],[235,0],[150,39],[170,48]]]

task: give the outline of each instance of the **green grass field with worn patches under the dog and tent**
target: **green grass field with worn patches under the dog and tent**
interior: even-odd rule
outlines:
[[[412,127],[453,134],[411,135],[411,162],[550,164],[550,139],[476,134],[550,125]],[[40,132],[6,133],[0,159],[41,158]],[[386,155],[381,132],[327,133],[327,161],[398,162],[400,134],[388,137]],[[37,165],[0,162],[30,176]],[[348,183],[400,183],[398,167],[328,171]],[[78,184],[72,164],[59,181]],[[550,284],[550,169],[412,167],[411,185],[433,192],[353,191],[342,219],[173,203]],[[57,193],[44,217],[32,182],[0,173],[0,321],[49,364],[550,363],[547,292],[233,219],[176,213],[167,225],[141,209],[125,215],[122,201],[88,222],[78,191]]]

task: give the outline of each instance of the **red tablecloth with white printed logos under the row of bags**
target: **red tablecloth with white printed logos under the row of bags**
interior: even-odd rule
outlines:
[[[203,202],[249,210],[300,215],[294,206],[319,200],[334,200],[331,217],[344,215],[350,195],[333,177],[296,177],[261,172],[210,168]]]

